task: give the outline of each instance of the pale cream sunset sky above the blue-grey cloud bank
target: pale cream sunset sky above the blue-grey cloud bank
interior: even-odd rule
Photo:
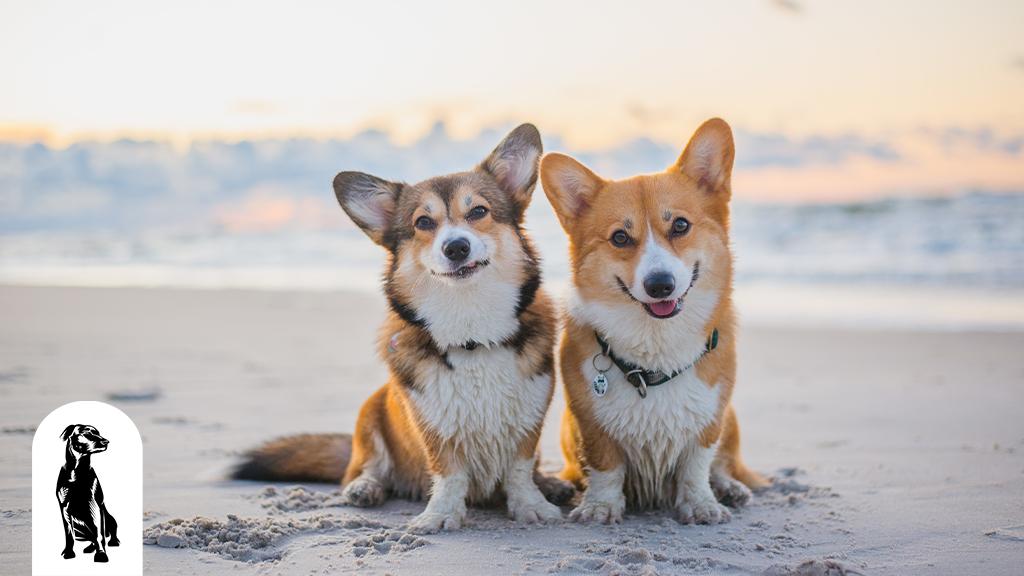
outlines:
[[[752,197],[1024,189],[1021,30],[1015,0],[0,0],[0,140],[409,143],[530,121],[567,150],[682,150],[719,116],[898,157],[748,167]]]

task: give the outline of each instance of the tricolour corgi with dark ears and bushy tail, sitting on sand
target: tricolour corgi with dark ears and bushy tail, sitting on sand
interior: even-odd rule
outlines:
[[[339,204],[388,252],[379,353],[390,377],[352,437],[300,436],[252,452],[233,475],[325,480],[344,500],[420,499],[417,533],[456,530],[466,504],[506,497],[516,521],[557,522],[574,488],[537,471],[554,394],[556,314],[521,224],[541,134],[513,130],[478,166],[416,184],[362,172],[334,179]]]

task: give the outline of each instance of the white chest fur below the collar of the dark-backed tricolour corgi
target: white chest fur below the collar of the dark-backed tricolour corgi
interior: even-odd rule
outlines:
[[[421,421],[464,455],[471,497],[485,498],[544,419],[551,374],[520,373],[503,346],[451,348],[452,370],[438,367],[411,394]]]

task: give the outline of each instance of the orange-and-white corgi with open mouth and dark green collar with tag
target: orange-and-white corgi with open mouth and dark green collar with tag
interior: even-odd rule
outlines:
[[[712,119],[659,174],[597,176],[548,154],[545,194],[569,237],[571,285],[559,349],[574,521],[671,506],[717,524],[765,481],[739,457],[730,404],[736,322],[729,251],[732,131]]]

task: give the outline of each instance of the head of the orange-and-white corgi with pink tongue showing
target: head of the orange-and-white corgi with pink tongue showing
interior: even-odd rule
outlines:
[[[733,156],[732,131],[717,118],[659,174],[606,180],[567,156],[547,155],[541,180],[569,236],[579,296],[660,323],[679,316],[695,291],[727,290]]]

